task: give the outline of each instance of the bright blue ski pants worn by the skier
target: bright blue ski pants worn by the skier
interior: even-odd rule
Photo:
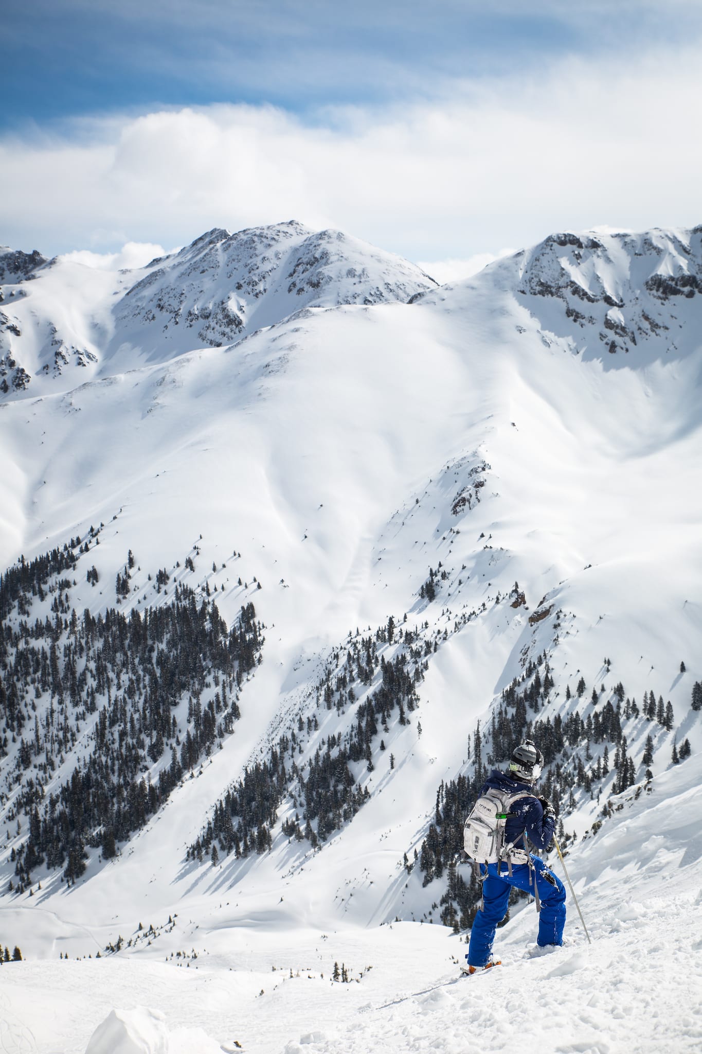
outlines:
[[[562,944],[563,926],[565,925],[565,886],[561,880],[546,867],[543,860],[531,856],[531,884],[529,884],[529,865],[526,863],[513,864],[512,875],[507,872],[507,865],[502,864],[502,871],[498,874],[498,865],[490,863],[485,866],[481,864],[481,872],[487,877],[483,882],[483,905],[482,910],[476,914],[470,930],[470,943],[466,956],[468,965],[484,967],[488,962],[495,940],[495,931],[498,922],[501,922],[507,914],[509,902],[509,889],[516,885],[518,890],[526,890],[534,893],[534,882],[536,881],[541,900],[541,911],[539,913],[539,936],[538,943]]]

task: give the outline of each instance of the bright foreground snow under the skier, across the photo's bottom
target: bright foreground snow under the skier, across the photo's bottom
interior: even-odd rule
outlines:
[[[146,1002],[165,1016],[172,1054],[234,1051],[235,1040],[258,1054],[460,1054],[509,1051],[517,1038],[544,1054],[699,1050],[702,844],[700,790],[689,772],[658,780],[649,800],[627,806],[599,843],[569,857],[589,948],[569,922],[566,945],[529,958],[536,914],[528,904],[498,932],[503,967],[456,980],[465,944],[442,926],[273,929],[237,919],[230,903],[215,898],[201,907],[198,931],[181,915],[175,931],[128,961],[7,968],[0,997],[6,1049],[82,1054],[112,1008]],[[183,968],[171,958],[181,949],[189,954],[194,941],[197,960]],[[330,981],[336,959],[352,983]]]

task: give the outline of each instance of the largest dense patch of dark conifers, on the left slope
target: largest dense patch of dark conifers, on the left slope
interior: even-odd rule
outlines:
[[[81,549],[85,552],[87,546]],[[24,772],[27,778],[32,772],[33,780],[35,770],[40,774],[41,782],[29,787],[45,785],[58,758],[69,756],[81,724],[95,715],[92,752],[68,770],[51,798],[34,793],[26,798],[28,839],[21,858],[13,861],[23,890],[31,887],[32,870],[42,863],[64,868],[73,883],[84,873],[86,847],[100,850],[104,860],[117,855],[118,841],[159,808],[183,769],[233,730],[239,717],[237,687],[257,663],[262,643],[253,605],[242,608],[229,632],[213,605],[196,603],[195,593],[180,585],[174,600],[155,609],[125,616],[107,608],[97,618],[85,610],[78,617],[67,596],[75,579],[65,577],[75,562],[72,551],[56,550],[0,577],[0,609],[3,620],[9,620],[0,662],[9,647],[16,668],[22,676],[26,670],[22,694],[33,688],[35,698],[51,698],[43,711],[34,707],[32,735],[21,735],[26,716],[18,705],[18,682],[11,682],[9,696],[0,683],[0,720],[19,739],[21,778]],[[118,573],[120,593],[125,588],[128,593],[128,570],[135,564],[131,553]],[[86,577],[97,581],[91,572]],[[157,579],[164,584],[168,572],[163,569]],[[54,592],[52,619],[37,620],[32,627],[12,621],[13,608],[19,612],[40,590]],[[221,696],[218,691],[215,700],[201,701],[213,674],[217,683],[223,678]],[[181,741],[173,710],[188,689],[195,701]],[[169,763],[163,765],[166,747]],[[160,765],[158,782],[142,778],[147,759]]]

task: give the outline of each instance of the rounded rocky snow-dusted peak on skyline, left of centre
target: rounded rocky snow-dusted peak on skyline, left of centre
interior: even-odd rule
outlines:
[[[156,262],[117,306],[113,344],[131,331],[135,349],[160,357],[232,344],[302,308],[405,302],[435,286],[399,256],[297,220],[215,228]]]

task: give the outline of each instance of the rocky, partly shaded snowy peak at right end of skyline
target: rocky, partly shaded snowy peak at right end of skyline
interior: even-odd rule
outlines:
[[[546,346],[559,341],[584,358],[602,358],[605,367],[622,365],[607,359],[605,352],[631,354],[641,366],[697,347],[701,241],[702,227],[644,234],[553,234],[530,250],[492,264],[469,286],[484,295],[489,275],[497,288],[516,293],[518,302],[539,320]],[[417,298],[460,302],[466,285]]]

